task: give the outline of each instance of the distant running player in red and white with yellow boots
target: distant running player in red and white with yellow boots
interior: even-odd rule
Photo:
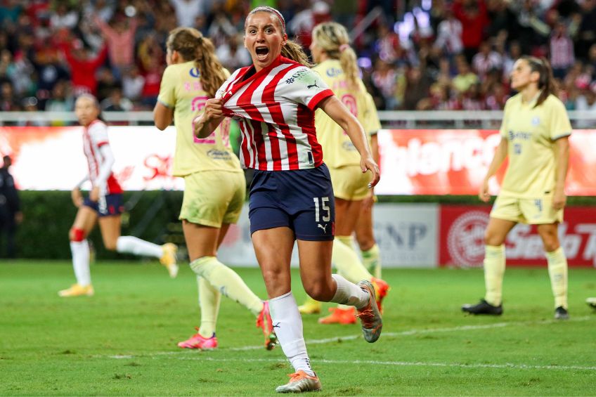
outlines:
[[[97,98],[89,94],[79,96],[74,103],[74,113],[84,126],[83,150],[89,164],[89,177],[72,190],[72,202],[79,208],[69,233],[72,266],[77,283],[58,292],[60,297],[93,295],[89,272],[89,243],[86,237],[96,221],[99,223],[105,248],[160,258],[172,278],[178,273],[176,245],[167,243],[160,247],[137,237],[120,235],[122,188],[112,174],[114,155],[108,141],[108,127],[100,118],[100,109]],[[91,181],[91,192],[89,197],[83,198],[79,186],[87,180]]]

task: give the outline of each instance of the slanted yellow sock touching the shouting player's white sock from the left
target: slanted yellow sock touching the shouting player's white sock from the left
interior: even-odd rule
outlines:
[[[224,296],[237,301],[257,316],[263,309],[263,301],[250,290],[238,273],[217,260],[215,256],[202,256],[190,263],[190,268],[202,276]]]

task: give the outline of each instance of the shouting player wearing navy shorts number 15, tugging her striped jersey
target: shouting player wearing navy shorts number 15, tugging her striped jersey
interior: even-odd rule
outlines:
[[[294,367],[278,392],[320,389],[302,337],[302,318],[290,289],[290,257],[298,240],[306,292],[319,301],[358,308],[364,337],[380,337],[382,320],[370,282],[355,285],[331,274],[335,205],[329,171],[316,140],[314,110],[321,108],[346,131],[361,153],[360,167],[379,181],[362,126],[325,86],[297,44],[287,39],[275,8],[254,8],[245,20],[245,47],[253,65],[235,71],[207,100],[195,134],[212,134],[225,116],[240,121],[240,159],[255,169],[250,188],[252,242],[283,352]]]

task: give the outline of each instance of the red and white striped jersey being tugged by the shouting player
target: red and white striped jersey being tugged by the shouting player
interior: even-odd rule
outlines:
[[[314,111],[333,95],[320,76],[279,57],[254,72],[242,67],[220,87],[224,114],[240,122],[242,167],[264,171],[309,169],[323,164]]]

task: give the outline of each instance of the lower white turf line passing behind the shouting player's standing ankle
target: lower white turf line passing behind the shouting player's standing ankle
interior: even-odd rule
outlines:
[[[176,357],[176,360],[201,360],[214,362],[240,361],[242,363],[287,363],[285,359],[277,358],[214,358],[214,357]],[[594,371],[596,367],[583,367],[581,365],[528,365],[528,364],[464,364],[464,363],[423,363],[422,361],[377,361],[377,360],[325,360],[317,359],[316,363],[325,364],[370,364],[370,365],[396,365],[399,367],[458,367],[458,368],[495,368],[517,370],[586,370]]]

